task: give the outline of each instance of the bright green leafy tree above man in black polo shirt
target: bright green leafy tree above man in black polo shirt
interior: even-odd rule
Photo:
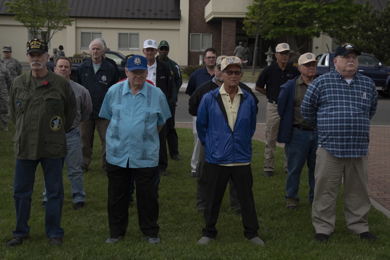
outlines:
[[[254,0],[254,4],[259,1]],[[297,59],[300,50],[314,37],[332,36],[334,28],[349,24],[358,10],[354,0],[264,0],[261,6],[258,22],[262,38],[293,36],[292,59]],[[248,11],[247,17],[254,15],[252,9],[248,8]],[[251,33],[252,27],[254,23],[252,26],[245,23],[244,29]]]

